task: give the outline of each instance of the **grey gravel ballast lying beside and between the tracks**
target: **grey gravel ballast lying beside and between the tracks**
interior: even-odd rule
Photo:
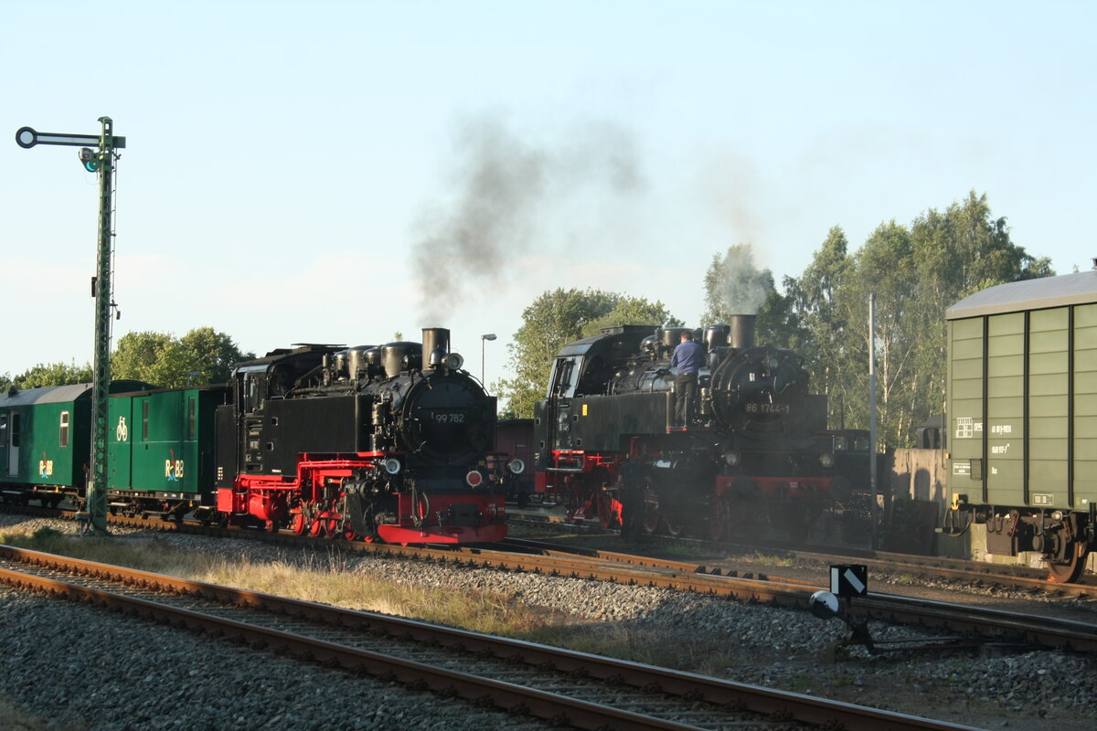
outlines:
[[[72,533],[71,523],[0,514],[0,527]],[[114,529],[118,540],[148,534]],[[157,534],[186,551],[312,562],[299,549]],[[346,557],[363,579],[454,592],[491,592],[575,618],[577,631],[658,638],[690,663],[713,658],[730,679],[838,698],[977,728],[1082,728],[1097,721],[1097,661],[1041,650],[869,655],[819,660],[844,633],[805,612],[641,586],[422,561]],[[884,591],[884,590],[882,590]],[[957,601],[962,601],[958,597]],[[929,630],[872,625],[877,640]],[[87,639],[91,638],[91,639]],[[0,695],[57,728],[463,729],[545,728],[429,694],[303,665],[104,609],[0,586]],[[655,640],[653,640],[655,641]]]

